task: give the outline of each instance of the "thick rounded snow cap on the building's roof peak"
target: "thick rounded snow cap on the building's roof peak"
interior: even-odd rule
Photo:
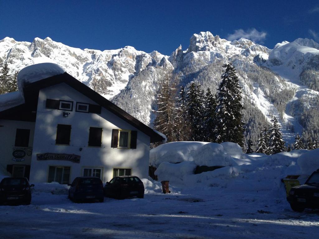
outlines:
[[[18,88],[23,97],[23,88],[30,84],[51,76],[63,74],[65,70],[55,63],[40,63],[27,66],[20,70],[18,74]]]

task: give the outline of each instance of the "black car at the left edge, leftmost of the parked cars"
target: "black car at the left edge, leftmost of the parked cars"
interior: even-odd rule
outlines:
[[[26,177],[5,177],[0,183],[1,204],[23,204],[31,203],[31,187]]]

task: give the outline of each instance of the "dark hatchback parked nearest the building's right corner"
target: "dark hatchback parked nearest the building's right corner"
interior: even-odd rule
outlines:
[[[144,198],[144,184],[136,176],[114,177],[104,186],[106,197],[124,199],[130,197]]]

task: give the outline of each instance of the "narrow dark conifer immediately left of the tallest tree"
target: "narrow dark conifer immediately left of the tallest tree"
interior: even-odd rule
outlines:
[[[215,120],[216,120],[216,98],[211,93],[211,89],[208,87],[205,95],[205,113],[204,113],[204,140],[207,142],[215,142],[216,136],[214,132]]]

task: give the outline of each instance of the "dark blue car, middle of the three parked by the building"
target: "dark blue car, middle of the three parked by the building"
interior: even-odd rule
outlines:
[[[103,183],[98,177],[76,177],[68,184],[69,199],[75,202],[96,200],[104,202]]]

